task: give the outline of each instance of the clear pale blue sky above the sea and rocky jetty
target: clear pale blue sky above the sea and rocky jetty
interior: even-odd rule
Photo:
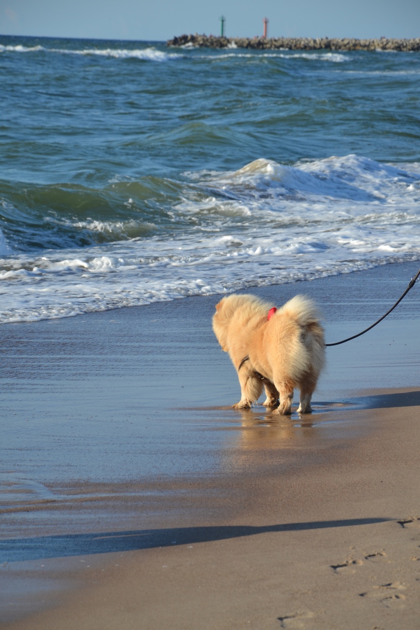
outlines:
[[[0,0],[2,35],[166,40],[228,37],[420,37],[420,0]]]

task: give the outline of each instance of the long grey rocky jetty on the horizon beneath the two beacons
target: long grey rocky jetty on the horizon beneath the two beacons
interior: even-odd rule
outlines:
[[[420,50],[420,37],[416,39],[359,40],[352,37],[330,39],[329,37],[213,37],[212,35],[180,35],[168,40],[168,46],[197,48],[251,48],[257,50]]]

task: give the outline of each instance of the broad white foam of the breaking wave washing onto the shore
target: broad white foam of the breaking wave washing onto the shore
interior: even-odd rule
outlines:
[[[259,159],[237,171],[188,177],[193,192],[186,188],[171,209],[185,229],[89,248],[3,254],[0,321],[420,259],[420,164],[404,168],[355,155],[295,166]]]

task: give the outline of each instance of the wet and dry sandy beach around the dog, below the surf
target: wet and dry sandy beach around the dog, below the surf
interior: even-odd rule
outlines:
[[[249,292],[312,295],[332,342],[416,271]],[[217,300],[0,327],[1,627],[419,627],[418,287],[291,418],[229,407]]]

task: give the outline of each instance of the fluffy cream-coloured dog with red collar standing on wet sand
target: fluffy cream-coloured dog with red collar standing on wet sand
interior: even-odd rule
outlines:
[[[216,305],[213,331],[229,352],[241,384],[236,409],[248,409],[263,387],[267,407],[292,413],[293,389],[300,389],[298,413],[310,413],[310,400],[324,365],[324,331],[314,301],[296,295],[276,310],[254,295],[229,295]]]

